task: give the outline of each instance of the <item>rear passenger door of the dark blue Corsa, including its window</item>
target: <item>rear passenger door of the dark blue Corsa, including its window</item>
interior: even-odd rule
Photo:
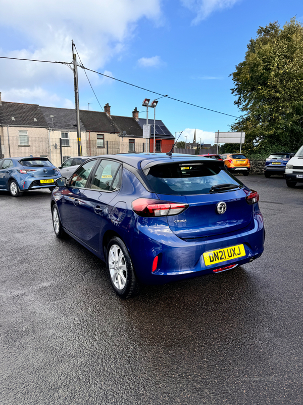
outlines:
[[[100,247],[100,233],[109,220],[110,205],[121,184],[121,164],[114,160],[100,161],[90,185],[80,201],[81,239],[95,251]]]

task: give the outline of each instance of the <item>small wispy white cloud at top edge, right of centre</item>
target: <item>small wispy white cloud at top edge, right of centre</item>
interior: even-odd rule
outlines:
[[[211,13],[217,10],[231,8],[240,0],[181,0],[183,6],[196,14],[192,20],[195,25],[201,20],[205,20]]]

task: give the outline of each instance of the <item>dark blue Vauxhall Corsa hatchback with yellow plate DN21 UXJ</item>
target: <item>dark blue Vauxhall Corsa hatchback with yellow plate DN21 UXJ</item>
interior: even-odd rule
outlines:
[[[264,250],[259,195],[221,160],[96,156],[56,184],[56,235],[68,233],[104,260],[121,298],[136,294],[140,284],[234,268]]]

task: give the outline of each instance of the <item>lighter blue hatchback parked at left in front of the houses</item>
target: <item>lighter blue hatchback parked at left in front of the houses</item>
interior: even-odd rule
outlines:
[[[18,197],[36,188],[55,188],[59,170],[47,157],[10,157],[0,160],[0,191],[10,191]]]

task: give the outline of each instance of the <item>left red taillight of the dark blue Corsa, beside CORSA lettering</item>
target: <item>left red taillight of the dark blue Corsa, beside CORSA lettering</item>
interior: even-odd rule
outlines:
[[[133,211],[140,217],[165,217],[178,215],[188,208],[188,204],[170,203],[160,199],[138,198],[131,203]]]

